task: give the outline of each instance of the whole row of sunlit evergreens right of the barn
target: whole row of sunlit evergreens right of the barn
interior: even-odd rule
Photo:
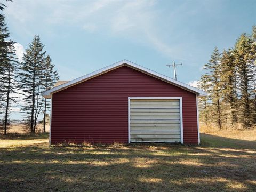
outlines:
[[[243,33],[233,48],[213,50],[204,65],[199,88],[209,95],[199,100],[199,118],[206,126],[250,129],[256,125],[256,26]]]

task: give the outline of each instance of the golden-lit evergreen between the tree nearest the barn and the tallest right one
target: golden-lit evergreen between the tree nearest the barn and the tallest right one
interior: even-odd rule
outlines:
[[[233,50],[224,50],[221,58],[221,95],[225,103],[226,116],[231,114],[231,124],[237,123],[236,68]]]

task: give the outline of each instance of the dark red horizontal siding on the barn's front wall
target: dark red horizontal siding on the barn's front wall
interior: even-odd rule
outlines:
[[[53,94],[51,143],[128,142],[128,97],[182,97],[184,143],[198,143],[196,94],[126,66]]]

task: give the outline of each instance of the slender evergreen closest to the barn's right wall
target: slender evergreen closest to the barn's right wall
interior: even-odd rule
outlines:
[[[205,64],[204,69],[207,70],[205,81],[209,83],[209,98],[212,101],[212,117],[221,130],[221,95],[220,95],[220,59],[221,55],[217,47],[214,48],[209,63]]]

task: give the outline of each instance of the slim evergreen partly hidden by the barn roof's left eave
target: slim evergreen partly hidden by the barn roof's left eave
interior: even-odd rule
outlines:
[[[51,89],[51,87],[59,80],[58,72],[54,70],[52,59],[47,55],[43,67],[43,89],[44,91]],[[43,131],[45,132],[46,113],[50,108],[50,103],[47,98],[44,98],[43,110]]]

